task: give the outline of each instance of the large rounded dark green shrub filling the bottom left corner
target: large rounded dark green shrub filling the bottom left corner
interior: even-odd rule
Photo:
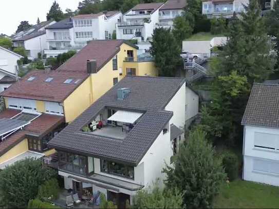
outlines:
[[[25,207],[38,194],[38,187],[56,177],[57,172],[42,168],[42,161],[28,158],[15,162],[0,172],[0,194],[3,205]]]

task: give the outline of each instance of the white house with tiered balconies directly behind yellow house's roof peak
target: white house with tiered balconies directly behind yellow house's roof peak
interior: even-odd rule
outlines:
[[[159,9],[163,3],[138,4],[123,15],[123,21],[116,24],[117,39],[146,42],[159,25]]]

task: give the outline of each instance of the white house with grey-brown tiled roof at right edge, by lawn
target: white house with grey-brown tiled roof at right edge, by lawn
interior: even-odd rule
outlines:
[[[279,85],[253,85],[244,125],[243,179],[279,186]]]

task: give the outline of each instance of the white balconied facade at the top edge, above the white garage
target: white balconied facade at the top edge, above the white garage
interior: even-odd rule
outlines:
[[[223,16],[230,18],[233,13],[240,14],[244,11],[244,5],[248,5],[248,0],[234,0],[228,2],[213,2],[204,1],[202,2],[202,14],[207,15],[209,18]]]

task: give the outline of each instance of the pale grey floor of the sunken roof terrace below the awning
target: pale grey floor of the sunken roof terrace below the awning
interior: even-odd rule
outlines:
[[[127,136],[125,130],[122,131],[121,126],[114,127],[111,125],[107,125],[101,129],[97,128],[93,132],[89,132],[89,134],[121,140]]]

